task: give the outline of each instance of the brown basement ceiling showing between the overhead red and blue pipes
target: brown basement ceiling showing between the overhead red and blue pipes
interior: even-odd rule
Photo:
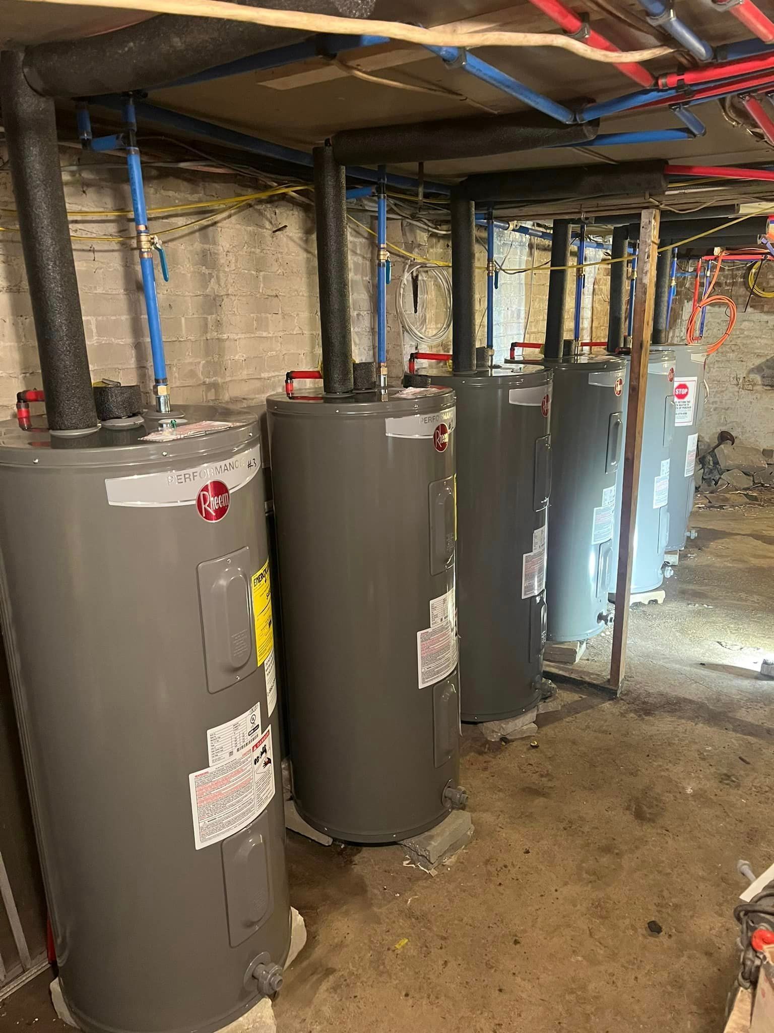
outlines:
[[[774,0],[759,0],[774,17]],[[623,49],[638,49],[670,41],[649,28],[644,9],[636,0],[585,0],[591,24]],[[730,13],[718,11],[710,0],[677,0],[676,13],[713,45],[747,38],[748,31]],[[616,17],[612,17],[614,11]],[[379,3],[376,17],[421,21],[424,25],[463,24],[465,27],[502,27],[522,31],[558,31],[528,0],[507,7],[486,0],[402,0]],[[3,0],[2,36],[14,42],[35,42],[93,34],[136,21],[140,15],[111,8],[63,7]],[[476,55],[533,89],[565,102],[602,100],[633,92],[639,87],[613,65],[588,61],[553,48],[490,48]],[[218,122],[265,139],[309,149],[340,129],[382,126],[400,122],[483,116],[487,112],[523,108],[514,97],[475,80],[461,69],[450,69],[421,46],[396,42],[348,51],[341,61],[368,74],[414,85],[450,90],[462,95],[440,96],[363,82],[342,64],[314,58],[268,71],[254,71],[230,79],[191,86],[154,90],[149,99],[164,107]],[[648,63],[654,73],[690,63],[684,55]],[[536,168],[551,165],[610,163],[644,158],[666,158],[700,164],[766,162],[774,151],[743,127],[731,124],[717,101],[691,108],[707,126],[706,135],[668,144],[640,144],[607,148],[541,149],[510,155],[474,156],[464,160],[436,161],[425,165],[434,178],[458,178],[474,171],[499,168]],[[605,119],[601,132],[680,128],[668,108],[642,111]],[[412,165],[394,165],[411,174]],[[754,191],[753,191],[754,192]]]

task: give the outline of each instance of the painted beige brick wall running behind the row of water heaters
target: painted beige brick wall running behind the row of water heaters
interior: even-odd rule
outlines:
[[[126,175],[119,159],[82,156],[63,149],[63,178],[68,208],[74,212],[116,212],[129,207]],[[119,167],[116,167],[116,166]],[[150,208],[206,198],[226,198],[247,192],[244,181],[230,176],[206,176],[148,167],[146,185]],[[0,171],[0,207],[13,208],[10,176]],[[185,213],[176,223],[201,217]],[[204,213],[206,214],[206,213]],[[367,216],[358,219],[373,226]],[[3,225],[12,225],[6,213]],[[93,378],[138,382],[150,398],[153,382],[150,345],[139,292],[136,251],[129,245],[96,237],[133,236],[125,216],[73,220],[73,241],[80,302]],[[483,234],[481,234],[483,237]],[[495,294],[495,354],[502,359],[511,341],[522,340],[529,311],[528,338],[544,338],[549,251],[542,242],[523,234],[498,231],[497,260],[506,269],[536,271],[499,277]],[[449,238],[428,234],[408,221],[390,220],[392,243],[419,256],[449,260]],[[169,381],[178,403],[261,400],[281,390],[292,368],[315,368],[320,361],[317,256],[314,211],[311,205],[261,201],[227,214],[217,222],[166,238],[170,280],[158,278]],[[479,249],[477,274],[478,335],[485,344],[486,252]],[[400,328],[395,298],[410,259],[393,255],[388,288],[388,364],[399,377],[409,351],[417,346]],[[350,287],[355,358],[374,355],[375,241],[354,223],[350,231]],[[443,295],[428,278],[429,328],[443,318]],[[569,294],[574,292],[570,277]],[[531,303],[529,296],[531,293]],[[405,291],[411,306],[411,287]],[[584,337],[600,337],[607,326],[607,273],[589,274],[584,305]],[[572,336],[572,298],[567,335]],[[451,350],[451,336],[436,345]],[[17,392],[39,386],[39,366],[30,300],[19,237],[0,233],[0,409],[10,415]]]

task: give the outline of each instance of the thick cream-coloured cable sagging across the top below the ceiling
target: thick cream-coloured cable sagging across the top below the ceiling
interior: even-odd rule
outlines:
[[[56,3],[65,7],[112,7],[147,10],[156,14],[227,19],[251,25],[268,25],[308,33],[386,36],[391,40],[434,46],[557,46],[589,61],[604,64],[640,63],[674,54],[671,46],[640,51],[596,51],[578,39],[555,32],[509,32],[501,30],[423,29],[406,22],[381,22],[367,18],[311,14],[300,10],[247,7],[226,0],[21,0],[22,3]]]

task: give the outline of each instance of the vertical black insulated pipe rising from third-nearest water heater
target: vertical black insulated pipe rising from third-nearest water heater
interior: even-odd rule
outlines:
[[[476,206],[454,190],[452,224],[452,369],[476,369]]]

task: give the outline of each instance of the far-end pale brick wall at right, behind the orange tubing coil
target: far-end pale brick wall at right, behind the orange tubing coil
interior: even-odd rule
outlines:
[[[774,289],[768,270],[759,279],[766,290]],[[678,280],[677,313],[673,310],[670,340],[685,340],[685,321],[690,313],[694,280]],[[746,265],[721,268],[716,293],[733,298],[737,304],[736,326],[725,343],[707,361],[709,398],[700,431],[711,441],[718,431],[731,431],[744,441],[761,447],[774,446],[774,299],[749,294]],[[707,309],[704,340],[712,343],[725,330],[725,307]]]

